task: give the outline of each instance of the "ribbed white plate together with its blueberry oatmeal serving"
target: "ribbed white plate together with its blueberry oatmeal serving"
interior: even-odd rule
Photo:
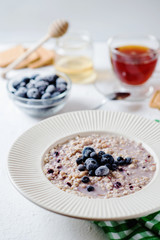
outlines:
[[[131,219],[160,209],[159,146],[160,124],[154,121],[120,112],[71,112],[20,136],[8,170],[26,198],[52,212]]]

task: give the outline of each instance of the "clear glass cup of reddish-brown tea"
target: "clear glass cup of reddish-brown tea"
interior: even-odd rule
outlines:
[[[128,100],[139,101],[153,92],[151,78],[157,61],[159,41],[154,36],[116,36],[108,40],[113,71],[119,90],[130,92]]]

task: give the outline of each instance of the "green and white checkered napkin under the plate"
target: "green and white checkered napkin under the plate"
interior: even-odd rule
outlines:
[[[160,123],[160,120],[156,120]],[[94,221],[110,240],[160,240],[160,211],[126,221]]]

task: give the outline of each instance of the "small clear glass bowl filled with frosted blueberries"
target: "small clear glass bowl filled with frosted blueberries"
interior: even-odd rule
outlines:
[[[64,107],[71,90],[71,80],[58,72],[17,76],[9,80],[7,90],[12,101],[25,113],[45,118]]]

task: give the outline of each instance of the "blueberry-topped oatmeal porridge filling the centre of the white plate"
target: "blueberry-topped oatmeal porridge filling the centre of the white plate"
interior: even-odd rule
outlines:
[[[77,136],[45,154],[43,171],[63,191],[93,198],[141,190],[156,170],[141,143],[116,135]]]

